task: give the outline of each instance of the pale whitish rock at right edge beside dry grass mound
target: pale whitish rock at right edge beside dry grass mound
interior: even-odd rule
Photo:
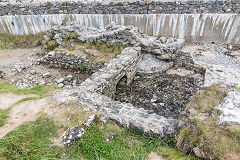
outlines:
[[[235,124],[240,126],[240,92],[230,91],[222,104],[216,107],[221,111],[219,116],[222,124]]]

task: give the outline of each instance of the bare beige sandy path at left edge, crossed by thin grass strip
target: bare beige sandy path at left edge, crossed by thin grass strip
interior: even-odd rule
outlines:
[[[22,97],[25,98],[30,96],[14,94],[8,95],[10,96],[5,97],[3,101],[0,99],[1,104],[5,104],[4,108],[11,107],[12,104],[16,103],[17,100],[20,100]],[[0,98],[4,96],[6,96],[6,94],[0,94]],[[67,110],[67,107],[56,107],[55,103],[51,101],[51,97],[25,101],[14,105],[9,113],[6,124],[0,127],[0,138],[4,137],[8,132],[14,130],[24,122],[35,121],[41,113],[46,113],[49,117],[62,122],[65,120],[64,115]],[[62,135],[63,131],[59,131],[59,133]]]

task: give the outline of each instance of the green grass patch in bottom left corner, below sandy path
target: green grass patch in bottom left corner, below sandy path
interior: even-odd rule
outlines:
[[[0,159],[60,159],[62,149],[50,147],[57,128],[46,115],[19,126],[0,139]]]

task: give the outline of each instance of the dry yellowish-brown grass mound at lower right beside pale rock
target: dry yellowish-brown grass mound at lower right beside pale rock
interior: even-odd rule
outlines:
[[[228,153],[240,153],[240,129],[234,125],[222,126],[219,124],[218,111],[213,108],[219,105],[226,97],[226,91],[213,85],[201,91],[187,106],[194,109],[190,119],[184,119],[188,127],[179,132],[177,146],[185,140],[190,142],[191,148],[199,147],[206,153],[226,159]]]

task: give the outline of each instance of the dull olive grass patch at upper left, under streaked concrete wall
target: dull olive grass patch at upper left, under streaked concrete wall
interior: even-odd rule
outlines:
[[[0,33],[0,49],[32,48],[41,45],[44,33],[12,35]]]

